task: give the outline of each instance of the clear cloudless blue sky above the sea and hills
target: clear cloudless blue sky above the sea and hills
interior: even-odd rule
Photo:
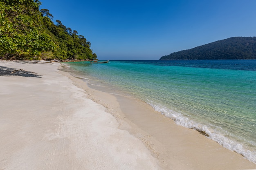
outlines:
[[[256,0],[40,0],[100,60],[158,60],[230,37],[256,36]],[[55,22],[56,23],[56,22]]]

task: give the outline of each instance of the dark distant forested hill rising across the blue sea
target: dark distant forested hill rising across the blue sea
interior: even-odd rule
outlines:
[[[159,60],[256,59],[256,37],[232,37],[162,56]]]

